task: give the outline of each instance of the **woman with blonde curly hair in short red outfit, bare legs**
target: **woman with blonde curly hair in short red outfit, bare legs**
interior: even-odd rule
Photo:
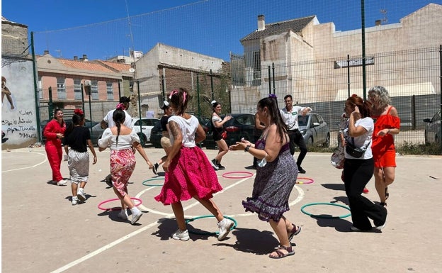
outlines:
[[[368,99],[373,104],[371,117],[375,121],[371,149],[375,160],[375,187],[380,198],[380,205],[387,206],[388,185],[395,181],[396,150],[393,135],[399,133],[400,118],[390,95],[384,87],[372,87],[368,90]]]

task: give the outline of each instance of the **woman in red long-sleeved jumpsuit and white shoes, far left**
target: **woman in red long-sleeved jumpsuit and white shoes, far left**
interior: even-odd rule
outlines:
[[[62,186],[67,183],[63,179],[60,173],[60,165],[62,164],[62,138],[64,137],[64,130],[66,130],[66,123],[63,119],[63,111],[60,108],[56,108],[54,111],[54,119],[48,122],[43,135],[46,137],[45,150],[47,160],[52,169],[52,182],[58,186]]]

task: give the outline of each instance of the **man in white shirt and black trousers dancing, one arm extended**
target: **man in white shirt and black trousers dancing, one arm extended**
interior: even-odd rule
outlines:
[[[297,115],[302,114],[302,116],[305,116],[308,112],[312,111],[312,108],[293,106],[293,98],[290,94],[284,96],[284,102],[285,107],[280,109],[280,113],[288,128],[288,136],[290,138],[290,153],[292,155],[295,154],[295,145],[300,147],[300,155],[297,157],[296,165],[298,172],[305,174],[305,169],[302,169],[301,164],[305,155],[307,155],[307,145],[305,145],[304,138],[300,133],[299,125],[297,123]]]

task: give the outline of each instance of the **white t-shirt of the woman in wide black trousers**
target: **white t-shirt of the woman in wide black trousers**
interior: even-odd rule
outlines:
[[[368,160],[369,158],[373,157],[373,154],[371,152],[371,136],[373,135],[373,130],[375,128],[375,123],[373,123],[372,118],[360,118],[358,121],[356,121],[355,126],[362,126],[367,130],[367,132],[363,135],[360,135],[358,137],[351,138],[351,136],[348,136],[348,128],[344,130],[344,138],[346,138],[346,142],[349,142],[353,144],[356,147],[365,147],[367,146],[367,150],[365,150],[365,153],[362,157],[356,158],[352,157],[351,155],[348,155],[347,152],[345,152],[345,157],[351,160]],[[354,139],[354,143],[353,143]],[[344,149],[345,151],[345,149]]]

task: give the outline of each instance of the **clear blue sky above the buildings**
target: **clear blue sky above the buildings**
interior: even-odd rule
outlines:
[[[365,27],[399,23],[429,3],[442,0],[365,0]],[[86,54],[106,60],[147,52],[157,43],[229,60],[243,52],[240,39],[266,23],[316,15],[336,30],[361,28],[361,1],[330,0],[4,0],[1,15],[28,26],[35,54],[55,57]]]

